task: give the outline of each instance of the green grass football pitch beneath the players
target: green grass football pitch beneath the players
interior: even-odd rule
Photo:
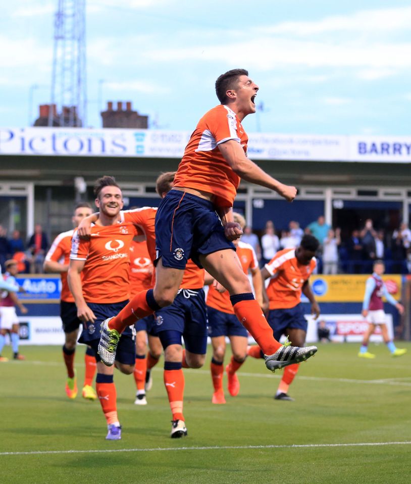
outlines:
[[[208,358],[202,369],[184,370],[188,437],[179,440],[169,437],[163,360],[145,407],[133,404],[132,375],[116,370],[123,438],[115,442],[105,440],[99,403],[81,398],[84,347],[73,401],[61,349],[22,347],[26,361],[0,363],[0,482],[408,483],[411,344],[398,346],[408,353],[392,358],[371,345],[377,358],[364,360],[359,345],[320,345],[290,387],[295,402],[275,401],[281,372],[249,358],[240,394],[226,392],[227,404],[213,405]]]

